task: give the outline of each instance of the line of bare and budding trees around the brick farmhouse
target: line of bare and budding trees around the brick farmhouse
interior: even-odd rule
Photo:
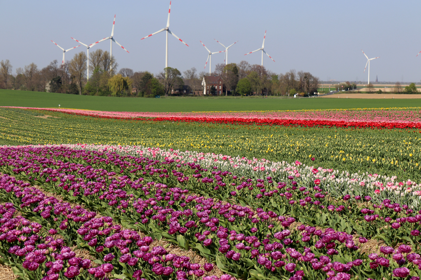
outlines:
[[[186,95],[184,92],[203,90],[202,81],[208,73],[191,68],[181,73],[177,68],[165,68],[157,74],[149,71],[134,72],[121,68],[108,51],[98,49],[89,55],[87,68],[85,52],[76,53],[70,61],[60,65],[53,60],[44,68],[30,63],[24,68],[13,66],[9,60],[0,62],[0,88],[36,92],[57,92],[98,96],[155,97],[156,95]],[[86,73],[90,71],[89,80]],[[221,76],[223,95],[293,95],[306,96],[317,92],[319,78],[309,72],[290,70],[277,74],[264,66],[242,60],[240,63],[216,64],[211,76]],[[187,93],[188,94],[188,93]],[[216,90],[210,91],[217,95]],[[191,95],[191,94],[190,94]]]

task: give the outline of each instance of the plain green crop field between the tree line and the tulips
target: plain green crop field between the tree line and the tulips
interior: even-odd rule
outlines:
[[[174,97],[128,98],[0,89],[0,106],[59,107],[127,112],[192,112],[416,107],[421,99]]]

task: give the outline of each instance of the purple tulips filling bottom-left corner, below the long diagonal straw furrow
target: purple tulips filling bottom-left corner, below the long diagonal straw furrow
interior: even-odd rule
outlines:
[[[0,251],[8,256],[3,262],[19,267],[28,279],[232,278],[209,275],[213,264],[190,263],[187,256],[168,254],[161,246],[149,247],[151,237],[141,238],[136,230],[115,225],[112,217],[96,217],[95,212],[45,196],[9,175],[0,176],[0,188],[3,200],[21,203],[0,205]],[[15,208],[31,220],[14,218]],[[63,238],[54,239],[56,234]],[[74,245],[88,250],[94,260],[77,257],[69,247]]]

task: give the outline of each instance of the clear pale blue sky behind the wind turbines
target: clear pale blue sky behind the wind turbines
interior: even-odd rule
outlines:
[[[166,25],[169,0],[153,1],[2,1],[0,60],[9,59],[13,72],[31,62],[42,68],[61,61],[62,52],[50,40],[68,49],[74,37],[91,44],[111,34],[130,53],[113,45],[119,68],[158,73],[165,67],[165,32],[140,40]],[[275,72],[309,71],[322,80],[367,81],[366,58],[380,56],[370,67],[370,80],[421,79],[421,2],[415,1],[237,1],[173,0],[170,30],[189,47],[168,36],[169,66],[202,71],[210,51],[229,49],[229,63],[248,60],[260,64],[259,52],[267,30],[264,66]],[[109,41],[91,50],[109,50]],[[70,60],[84,46],[67,52]],[[224,55],[213,55],[212,67]],[[209,65],[209,63],[208,63]],[[205,71],[209,71],[206,67]]]

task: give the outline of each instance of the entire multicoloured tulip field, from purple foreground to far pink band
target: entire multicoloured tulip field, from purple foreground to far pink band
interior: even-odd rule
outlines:
[[[419,280],[420,108],[0,108],[22,280]]]

